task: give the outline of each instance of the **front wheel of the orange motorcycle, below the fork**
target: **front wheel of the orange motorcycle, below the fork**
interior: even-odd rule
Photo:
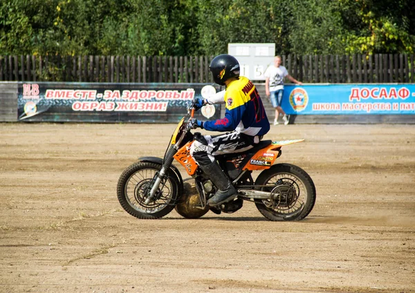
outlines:
[[[160,169],[160,164],[136,162],[122,172],[117,184],[118,201],[131,216],[157,219],[174,209],[179,181],[172,172],[168,172],[160,183],[154,198],[149,203],[145,202]]]

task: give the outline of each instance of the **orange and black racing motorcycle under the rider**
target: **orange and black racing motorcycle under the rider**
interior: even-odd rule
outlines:
[[[142,157],[122,172],[117,196],[127,213],[136,218],[156,219],[176,209],[184,218],[200,218],[208,211],[234,213],[243,207],[244,201],[250,201],[268,220],[302,220],[310,214],[316,198],[311,177],[293,164],[275,164],[283,146],[304,140],[262,140],[243,153],[216,156],[237,189],[237,198],[219,207],[207,205],[217,187],[190,155],[192,142],[201,135],[191,132],[192,117],[194,104],[178,122],[163,159]],[[183,180],[174,160],[190,178]],[[256,180],[252,178],[253,171],[261,171]]]

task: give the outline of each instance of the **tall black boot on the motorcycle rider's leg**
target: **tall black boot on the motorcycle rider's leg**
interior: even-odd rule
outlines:
[[[200,167],[219,189],[216,191],[215,195],[208,200],[208,205],[216,207],[223,204],[223,202],[228,202],[237,197],[236,189],[233,187],[228,177],[225,176],[218,163],[212,162],[211,164]]]

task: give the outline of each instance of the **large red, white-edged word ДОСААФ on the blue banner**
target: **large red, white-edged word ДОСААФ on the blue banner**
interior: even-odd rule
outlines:
[[[387,88],[372,88],[369,90],[369,88],[351,88],[351,93],[349,95],[349,101],[353,102],[353,100],[360,101],[362,99],[374,99],[374,100],[405,100],[411,95],[411,92],[409,89],[403,87],[399,88],[398,91],[395,87],[392,87],[389,89],[389,92],[387,91]],[[412,94],[413,95],[413,94]]]

